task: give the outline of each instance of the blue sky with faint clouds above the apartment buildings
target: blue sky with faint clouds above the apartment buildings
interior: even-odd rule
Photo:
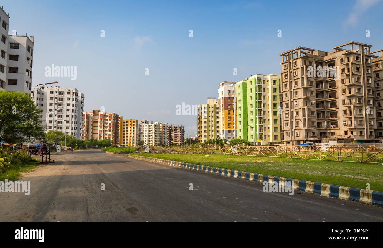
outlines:
[[[10,33],[34,36],[33,86],[57,80],[84,93],[85,111],[105,107],[123,118],[184,125],[191,136],[197,117],[175,115],[177,104],[206,103],[222,81],[280,74],[280,53],[298,46],[331,51],[349,41],[383,48],[380,0],[6,0],[2,6]],[[77,79],[45,77],[51,64],[77,66]]]

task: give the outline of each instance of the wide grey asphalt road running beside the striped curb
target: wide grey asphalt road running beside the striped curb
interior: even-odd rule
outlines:
[[[0,192],[0,221],[383,221],[383,208],[111,155],[52,154],[31,193]],[[101,184],[105,184],[105,191]],[[193,191],[189,184],[193,183]]]

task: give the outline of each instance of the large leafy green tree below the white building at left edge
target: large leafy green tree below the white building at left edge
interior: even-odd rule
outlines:
[[[0,141],[22,143],[30,137],[43,137],[41,112],[43,110],[36,108],[29,94],[0,90]]]

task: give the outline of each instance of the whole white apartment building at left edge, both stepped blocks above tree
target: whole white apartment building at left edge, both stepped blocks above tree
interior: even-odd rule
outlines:
[[[9,33],[9,15],[0,8],[0,90],[31,93],[33,36]]]

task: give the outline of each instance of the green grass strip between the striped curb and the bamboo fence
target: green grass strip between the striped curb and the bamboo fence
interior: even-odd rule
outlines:
[[[383,165],[355,162],[316,161],[290,158],[249,157],[226,154],[151,154],[135,155],[200,164],[271,176],[323,182],[383,192]]]

